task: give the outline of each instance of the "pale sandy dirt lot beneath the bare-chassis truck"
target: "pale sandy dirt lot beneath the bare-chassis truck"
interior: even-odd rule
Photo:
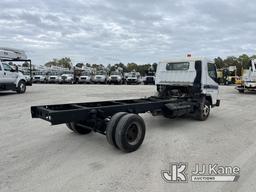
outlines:
[[[33,85],[23,95],[0,93],[0,191],[255,191],[256,94],[221,87],[221,107],[205,122],[144,114],[144,143],[130,154],[102,135],[79,136],[30,116],[31,105],[153,92],[143,85]],[[237,165],[241,174],[235,183],[166,183],[160,173],[170,162]]]

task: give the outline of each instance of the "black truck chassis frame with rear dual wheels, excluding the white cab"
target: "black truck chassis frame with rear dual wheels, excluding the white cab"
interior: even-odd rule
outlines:
[[[31,114],[32,118],[44,119],[52,125],[66,124],[69,129],[79,134],[94,131],[106,135],[110,144],[124,152],[132,152],[138,149],[145,135],[145,124],[138,114],[151,112],[154,116],[162,114],[168,118],[182,116],[195,112],[204,99],[152,96],[141,99],[42,105],[32,106]],[[136,140],[137,137],[140,138]],[[129,144],[129,139],[138,143]]]

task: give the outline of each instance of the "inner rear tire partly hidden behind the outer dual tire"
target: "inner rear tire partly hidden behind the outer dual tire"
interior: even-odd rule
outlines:
[[[106,128],[106,137],[107,137],[107,141],[110,145],[115,146],[116,148],[119,148],[116,144],[116,140],[115,140],[115,134],[116,134],[116,126],[119,122],[119,120],[126,115],[126,112],[119,112],[114,114],[110,121],[108,122],[107,128]]]

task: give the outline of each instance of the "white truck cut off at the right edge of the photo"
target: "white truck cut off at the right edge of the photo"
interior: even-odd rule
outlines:
[[[249,70],[245,71],[241,85],[236,86],[240,93],[245,91],[256,91],[256,59],[250,61]]]

